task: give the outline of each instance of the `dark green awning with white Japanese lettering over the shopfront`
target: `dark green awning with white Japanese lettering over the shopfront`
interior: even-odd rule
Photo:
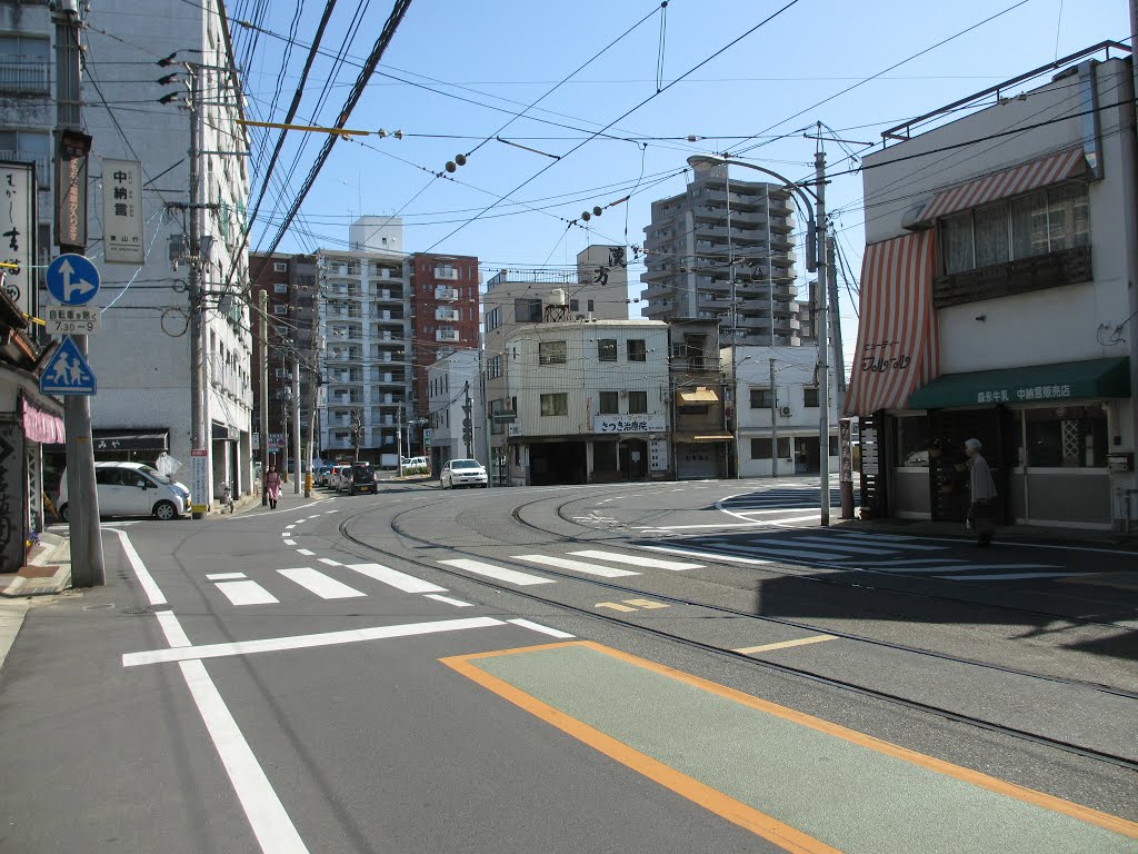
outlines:
[[[909,409],[987,407],[1092,397],[1129,397],[1130,360],[1032,364],[970,373],[946,373],[909,395]]]

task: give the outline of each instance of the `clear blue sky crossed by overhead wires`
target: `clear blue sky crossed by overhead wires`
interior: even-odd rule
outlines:
[[[362,2],[348,64],[330,77],[331,58],[318,58],[297,121],[331,124],[339,113],[390,11],[386,0]],[[802,132],[813,132],[816,122],[843,139],[880,147],[881,131],[906,118],[1096,42],[1129,41],[1124,0],[798,0],[780,13],[787,2],[670,0],[661,27],[659,2],[414,0],[347,124],[401,130],[403,139],[337,142],[302,207],[303,221],[294,223],[280,249],[343,246],[348,223],[361,213],[398,213],[407,251],[477,255],[487,277],[501,268],[571,266],[589,243],[643,244],[651,202],[681,191],[681,171],[693,153],[748,149],[743,156],[757,165],[805,179],[813,173],[816,143]],[[255,6],[228,2],[234,20],[249,17]],[[288,35],[295,3],[269,6],[259,25]],[[304,5],[298,43],[287,60],[282,39],[262,33],[254,43],[250,31],[233,25],[238,56],[248,66],[250,117],[283,117],[322,7]],[[356,3],[338,5],[324,39],[330,51],[345,41],[355,10]],[[538,99],[525,116],[511,115]],[[589,139],[642,101],[605,131],[620,139]],[[706,139],[687,142],[688,134]],[[498,136],[517,145],[493,139]],[[278,202],[274,186],[251,248],[266,248],[323,143],[315,134],[290,133],[277,170],[281,178],[289,175],[304,137],[310,139],[286,203]],[[264,139],[255,137],[262,146]],[[867,150],[835,142],[825,148],[835,173],[851,167],[849,149]],[[469,159],[456,180],[432,176],[460,153]],[[627,203],[587,228],[567,224],[629,192]],[[864,247],[860,199],[857,174],[838,174],[827,188],[827,207],[855,273]],[[629,269],[629,299],[640,296],[642,270]],[[637,305],[629,307],[640,315]],[[849,352],[856,320],[844,290],[841,315]]]

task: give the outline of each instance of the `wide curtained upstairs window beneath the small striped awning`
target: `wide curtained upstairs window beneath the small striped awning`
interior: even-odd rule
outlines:
[[[945,272],[958,273],[1090,244],[1087,187],[1069,183],[948,216]]]

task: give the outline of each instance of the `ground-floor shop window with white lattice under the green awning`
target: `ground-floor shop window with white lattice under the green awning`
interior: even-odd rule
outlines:
[[[1106,412],[1099,405],[1026,409],[1028,465],[1039,468],[1105,468]],[[1023,449],[1019,459],[1023,461]]]

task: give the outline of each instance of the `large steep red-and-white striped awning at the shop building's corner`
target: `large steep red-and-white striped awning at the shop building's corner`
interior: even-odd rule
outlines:
[[[915,388],[940,376],[932,314],[934,246],[935,232],[920,231],[865,247],[847,414],[904,409]]]

